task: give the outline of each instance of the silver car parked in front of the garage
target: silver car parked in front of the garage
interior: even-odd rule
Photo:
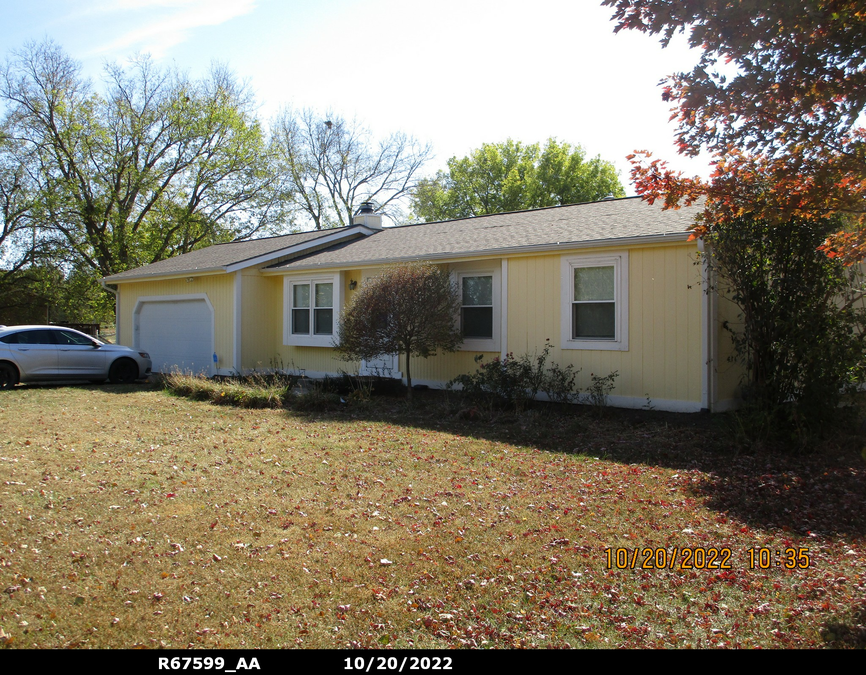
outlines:
[[[58,326],[0,328],[0,389],[38,380],[113,384],[150,375],[150,355]]]

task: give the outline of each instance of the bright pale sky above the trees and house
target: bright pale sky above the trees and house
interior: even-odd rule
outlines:
[[[550,136],[614,162],[627,192],[634,149],[690,174],[708,159],[673,147],[658,82],[697,60],[613,34],[595,0],[0,0],[0,53],[49,37],[95,82],[148,52],[192,75],[228,64],[264,120],[287,106],[355,117],[378,135],[433,145],[444,168],[485,142]]]

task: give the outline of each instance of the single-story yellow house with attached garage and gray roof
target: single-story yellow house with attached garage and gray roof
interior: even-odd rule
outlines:
[[[148,351],[155,372],[402,377],[395,357],[340,360],[339,315],[383,265],[431,261],[461,290],[465,340],[413,360],[413,384],[442,387],[474,371],[479,353],[531,355],[549,339],[582,387],[618,371],[612,405],[720,411],[739,379],[721,329],[736,312],[706,292],[687,231],[696,212],[625,198],[383,228],[363,207],[351,227],[218,244],[105,283],[116,288],[118,342]]]

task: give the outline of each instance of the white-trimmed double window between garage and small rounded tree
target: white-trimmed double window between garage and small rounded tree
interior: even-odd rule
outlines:
[[[287,277],[284,291],[284,344],[333,346],[340,307],[339,276],[305,279]]]

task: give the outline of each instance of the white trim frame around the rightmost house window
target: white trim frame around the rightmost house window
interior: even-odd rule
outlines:
[[[615,332],[612,340],[572,337],[574,270],[585,267],[611,267],[614,278]],[[628,351],[628,251],[610,255],[562,256],[560,317],[562,349]]]

